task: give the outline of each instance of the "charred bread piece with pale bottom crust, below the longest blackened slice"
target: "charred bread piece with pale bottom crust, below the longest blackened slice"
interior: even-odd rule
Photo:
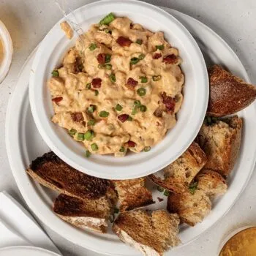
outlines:
[[[60,194],[53,211],[64,221],[84,229],[106,233],[108,219],[112,212],[110,203],[101,197],[96,200],[82,200],[78,197]]]

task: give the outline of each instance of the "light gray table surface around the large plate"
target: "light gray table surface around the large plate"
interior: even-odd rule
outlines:
[[[256,83],[256,1],[255,0],[147,0],[151,4],[170,7],[202,21],[217,32],[241,59],[249,78]],[[86,0],[69,0],[73,8],[88,3]],[[0,85],[0,191],[7,190],[20,203],[23,201],[10,170],[4,142],[4,123],[7,102],[15,88],[18,72],[32,50],[49,29],[61,18],[53,0],[0,0],[0,20],[9,29],[14,56],[9,75]],[[255,138],[252,143],[255,143]],[[252,175],[235,206],[217,225],[191,244],[172,253],[176,255],[215,256],[219,244],[228,233],[244,225],[256,225],[256,173]],[[1,207],[1,206],[0,206]],[[64,256],[98,255],[70,243],[53,233],[46,232]],[[99,244],[100,246],[100,244]]]

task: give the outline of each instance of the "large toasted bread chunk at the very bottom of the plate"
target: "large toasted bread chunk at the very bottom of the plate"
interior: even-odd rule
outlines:
[[[112,230],[124,243],[139,249],[143,255],[163,255],[170,246],[177,246],[179,219],[177,214],[158,210],[121,213]]]

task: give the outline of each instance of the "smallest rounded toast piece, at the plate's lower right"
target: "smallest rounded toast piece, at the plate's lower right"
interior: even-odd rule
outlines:
[[[227,181],[214,170],[201,170],[195,176],[197,189],[202,189],[209,197],[217,197],[227,192]]]

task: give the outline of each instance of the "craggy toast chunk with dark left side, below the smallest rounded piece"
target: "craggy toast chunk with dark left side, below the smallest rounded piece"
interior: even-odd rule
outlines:
[[[167,199],[167,210],[178,214],[182,222],[195,226],[211,211],[211,200],[203,190],[195,189],[182,194],[171,193]]]

